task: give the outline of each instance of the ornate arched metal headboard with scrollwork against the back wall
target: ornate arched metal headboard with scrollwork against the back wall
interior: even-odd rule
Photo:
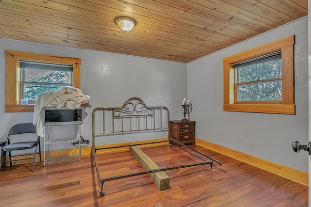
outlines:
[[[167,107],[147,106],[142,99],[131,97],[120,107],[95,108],[92,119],[94,144],[98,135],[168,131],[170,112]]]

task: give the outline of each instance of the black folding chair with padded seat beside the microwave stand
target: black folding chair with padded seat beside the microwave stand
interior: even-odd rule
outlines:
[[[23,123],[23,124],[17,124],[11,127],[6,143],[4,146],[1,148],[1,162],[0,162],[0,167],[2,166],[2,162],[7,162],[10,161],[10,166],[12,166],[12,157],[11,156],[11,151],[15,150],[25,150],[25,149],[32,149],[35,147],[35,153],[30,153],[30,155],[34,154],[34,158],[26,158],[26,159],[34,159],[33,161],[33,168],[32,171],[34,171],[35,168],[35,159],[37,155],[37,151],[39,148],[39,156],[40,156],[40,162],[41,162],[41,147],[40,147],[40,137],[37,137],[36,141],[24,141],[23,136],[18,136],[20,137],[19,141],[15,141],[14,143],[10,143],[10,136],[11,135],[17,135],[17,134],[26,134],[26,133],[33,133],[36,134],[36,127],[33,125],[33,123]],[[38,147],[39,146],[39,147]],[[6,152],[9,152],[9,157],[10,160],[5,160]],[[20,156],[21,154],[18,154],[16,156]],[[26,155],[26,154],[22,154]],[[13,161],[17,160],[24,160],[24,159],[14,159]]]

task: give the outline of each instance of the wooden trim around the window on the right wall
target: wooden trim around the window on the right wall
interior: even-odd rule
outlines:
[[[233,64],[273,52],[282,53],[282,103],[236,104]],[[223,59],[224,111],[295,114],[294,105],[294,35],[252,48]]]

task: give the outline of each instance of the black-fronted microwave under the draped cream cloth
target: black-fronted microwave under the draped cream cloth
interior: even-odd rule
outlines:
[[[62,107],[44,107],[44,125],[57,126],[57,125],[75,125],[83,123],[83,110],[82,107],[78,109],[69,109]]]

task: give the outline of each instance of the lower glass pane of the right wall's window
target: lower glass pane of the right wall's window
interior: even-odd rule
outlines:
[[[282,81],[266,81],[238,85],[238,101],[282,100]]]

